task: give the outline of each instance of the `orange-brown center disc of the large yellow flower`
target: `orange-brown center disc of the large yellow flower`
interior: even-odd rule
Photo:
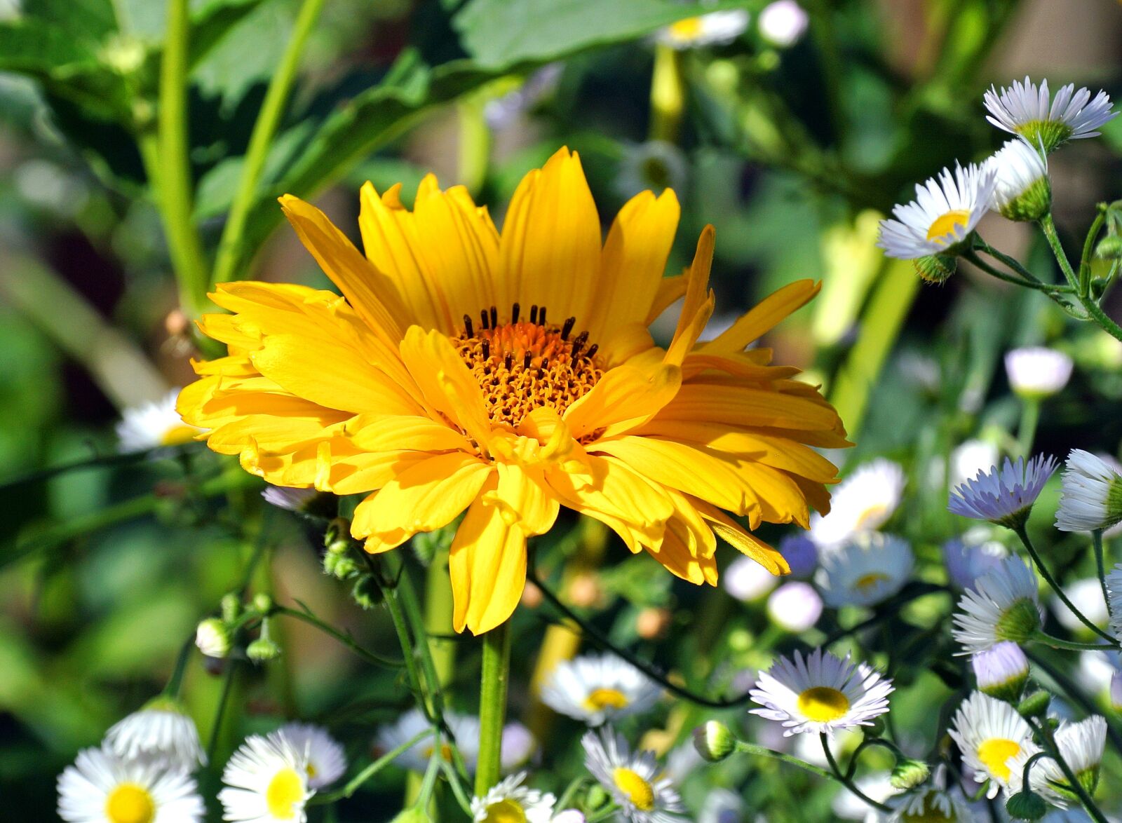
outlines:
[[[452,344],[479,381],[493,424],[514,428],[543,406],[564,414],[604,377],[598,346],[589,345],[588,332],[572,333],[576,322],[552,325],[544,306],[519,318],[517,303],[503,325],[495,306],[479,313],[478,325],[463,315],[463,332]]]

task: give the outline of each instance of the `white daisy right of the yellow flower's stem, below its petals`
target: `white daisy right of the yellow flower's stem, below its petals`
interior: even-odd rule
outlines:
[[[662,686],[608,653],[562,660],[542,686],[545,705],[589,725],[645,712],[661,695]]]

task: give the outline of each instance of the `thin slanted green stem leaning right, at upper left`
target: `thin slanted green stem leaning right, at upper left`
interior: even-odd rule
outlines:
[[[288,38],[288,45],[280,58],[280,65],[277,66],[269,81],[268,91],[265,92],[265,100],[261,102],[261,110],[257,114],[257,121],[254,123],[254,130],[249,137],[249,146],[246,149],[246,158],[241,167],[241,177],[230,204],[230,213],[226,221],[226,228],[222,230],[222,239],[219,241],[218,255],[214,259],[214,275],[210,283],[224,283],[236,276],[233,269],[239,259],[238,247],[246,230],[250,206],[255,202],[257,185],[260,182],[273,138],[280,124],[280,118],[284,114],[293,83],[295,83],[301,55],[304,53],[307,37],[312,33],[322,8],[323,0],[304,0]]]

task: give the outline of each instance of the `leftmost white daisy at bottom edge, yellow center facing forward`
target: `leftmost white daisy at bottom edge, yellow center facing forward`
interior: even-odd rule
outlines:
[[[58,776],[67,823],[202,823],[205,814],[194,778],[165,764],[85,749]]]

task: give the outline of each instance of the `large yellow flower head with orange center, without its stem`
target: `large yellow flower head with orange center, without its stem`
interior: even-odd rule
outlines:
[[[715,584],[716,536],[773,574],[782,555],[730,515],[808,526],[836,469],[811,446],[848,445],[818,391],[745,346],[806,304],[794,283],[716,340],[714,231],[663,278],[672,191],[632,198],[607,240],[580,159],[561,149],[514,194],[502,235],[462,186],[432,175],[414,210],[399,186],[361,192],[364,257],[315,207],[285,214],[342,292],[230,283],[204,333],[229,357],[195,363],[183,418],[217,452],[276,486],[369,492],[352,534],[399,546],[467,510],[451,547],[454,625],[514,611],[526,538],[560,506],[613,528],[692,583]],[[647,324],[684,296],[666,349]]]

